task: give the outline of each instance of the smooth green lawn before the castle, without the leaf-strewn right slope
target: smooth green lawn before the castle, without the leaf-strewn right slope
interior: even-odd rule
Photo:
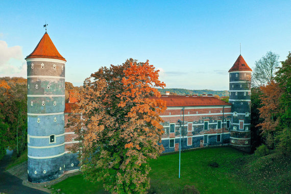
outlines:
[[[204,148],[181,153],[181,178],[179,154],[160,156],[151,160],[151,192],[181,193],[185,185],[195,185],[201,193],[250,193],[245,182],[238,182],[232,173],[234,161],[246,157],[230,147]],[[217,162],[219,167],[208,164]],[[76,184],[77,183],[77,184]],[[70,177],[52,186],[68,193],[104,193],[102,184],[85,181],[82,175]]]

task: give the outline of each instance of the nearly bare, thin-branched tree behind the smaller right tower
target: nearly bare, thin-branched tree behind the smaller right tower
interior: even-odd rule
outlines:
[[[279,55],[269,51],[260,60],[255,62],[252,75],[252,86],[258,87],[270,83],[275,76],[276,68],[279,66]]]

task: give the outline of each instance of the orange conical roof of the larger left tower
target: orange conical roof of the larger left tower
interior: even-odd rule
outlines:
[[[48,58],[66,61],[58,52],[56,46],[46,32],[35,47],[34,51],[26,57],[26,59],[28,58]]]

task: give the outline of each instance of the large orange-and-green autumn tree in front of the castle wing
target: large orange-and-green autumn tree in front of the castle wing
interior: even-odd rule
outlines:
[[[164,86],[153,65],[133,59],[101,67],[84,81],[70,123],[86,179],[102,181],[112,193],[147,192],[147,161],[163,151],[159,114],[166,108],[151,96],[160,96],[156,87]]]

